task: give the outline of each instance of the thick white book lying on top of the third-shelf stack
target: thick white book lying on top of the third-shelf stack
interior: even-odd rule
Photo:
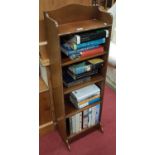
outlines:
[[[97,94],[100,94],[100,88],[97,85],[92,84],[72,91],[70,96],[72,96],[72,98],[78,103]]]

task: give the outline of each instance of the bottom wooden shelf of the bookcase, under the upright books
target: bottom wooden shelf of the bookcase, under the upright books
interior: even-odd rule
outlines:
[[[67,136],[67,139],[69,142],[72,142],[74,141],[75,139],[78,139],[82,136],[85,136],[87,135],[88,133],[92,132],[92,131],[95,131],[96,129],[99,129],[100,128],[100,123],[94,125],[94,126],[91,126],[89,128],[85,128],[85,129],[82,129],[82,131],[76,133],[76,134],[72,134],[72,135],[69,135],[68,133],[68,136]]]

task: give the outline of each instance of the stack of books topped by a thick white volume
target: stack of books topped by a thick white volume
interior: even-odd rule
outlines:
[[[95,85],[89,85],[70,93],[70,101],[77,109],[84,108],[90,104],[101,101],[100,88]]]

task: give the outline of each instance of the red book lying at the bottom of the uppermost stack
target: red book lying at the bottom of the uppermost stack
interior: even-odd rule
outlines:
[[[103,52],[104,52],[104,47],[99,46],[97,48],[81,52],[81,58],[88,57],[88,56],[93,56],[93,55],[96,55],[96,54],[103,54]]]

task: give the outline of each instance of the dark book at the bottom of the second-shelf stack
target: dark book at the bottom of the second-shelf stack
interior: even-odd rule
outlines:
[[[91,77],[90,76],[86,76],[77,80],[74,80],[68,73],[67,71],[63,72],[63,84],[65,87],[72,87],[75,86],[77,84],[81,84],[83,82],[87,82],[90,81]]]

